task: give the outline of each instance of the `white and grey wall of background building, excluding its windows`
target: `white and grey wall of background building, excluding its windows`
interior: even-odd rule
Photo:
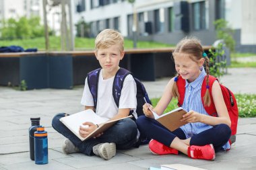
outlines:
[[[82,0],[76,0],[76,3]],[[106,19],[110,19],[110,28],[113,28],[113,18],[119,17],[119,28],[118,30],[126,38],[133,38],[133,9],[137,13],[137,21],[139,20],[139,15],[144,16],[144,22],[151,22],[152,24],[152,34],[141,30],[146,29],[146,24],[137,22],[137,39],[138,40],[153,40],[157,42],[164,42],[168,44],[177,44],[179,40],[185,36],[196,36],[199,38],[203,45],[212,45],[216,41],[216,32],[213,22],[219,17],[224,17],[230,26],[236,31],[234,38],[236,40],[236,50],[242,51],[242,48],[252,49],[251,46],[256,47],[256,34],[255,34],[255,15],[254,9],[256,7],[256,1],[253,0],[190,0],[189,2],[189,32],[184,32],[183,30],[175,29],[177,27],[177,19],[175,17],[179,15],[174,15],[174,28],[170,31],[168,27],[169,8],[172,10],[175,7],[175,0],[136,0],[134,6],[127,1],[119,0],[117,3],[110,3],[109,5],[98,6],[91,9],[91,1],[86,1],[86,10],[81,13],[75,13],[74,22],[84,17],[85,21],[92,23],[92,36],[96,36],[98,32],[104,29],[104,23]],[[112,2],[110,0],[110,2]],[[220,7],[217,7],[217,2],[223,3],[223,12]],[[95,1],[94,1],[95,3]],[[197,3],[197,5],[195,5]],[[205,10],[205,26],[199,30],[195,30],[195,21],[193,19],[193,13],[197,11],[198,7],[203,4],[203,10]],[[196,8],[197,6],[197,8]],[[134,7],[134,8],[133,8]],[[222,7],[221,7],[222,8]],[[156,31],[156,10],[164,11],[164,22],[161,22],[164,28],[160,32]],[[200,6],[201,10],[201,6]],[[218,13],[217,13],[218,12]],[[140,14],[139,14],[140,13]],[[162,13],[162,12],[160,12]],[[221,13],[221,15],[219,14]],[[160,14],[161,15],[161,14]],[[196,14],[195,14],[196,15]],[[198,15],[198,14],[197,14]],[[223,16],[222,16],[223,15]],[[201,18],[201,13],[199,13]],[[200,20],[200,19],[199,19]],[[160,24],[160,25],[161,25]],[[179,27],[179,26],[178,26]]]

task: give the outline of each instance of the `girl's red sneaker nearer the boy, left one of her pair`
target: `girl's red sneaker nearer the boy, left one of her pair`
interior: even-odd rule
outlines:
[[[150,151],[155,155],[167,155],[167,154],[175,154],[178,155],[178,150],[175,148],[170,148],[165,146],[164,144],[152,139],[148,144]]]

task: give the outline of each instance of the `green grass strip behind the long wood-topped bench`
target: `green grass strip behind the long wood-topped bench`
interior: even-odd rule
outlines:
[[[31,38],[23,40],[0,40],[1,46],[22,46],[23,48],[38,48],[38,50],[45,50],[44,38]],[[138,41],[137,48],[164,48],[172,47],[174,45],[164,44],[159,42]],[[61,38],[51,36],[49,38],[50,50],[61,50]],[[133,48],[133,41],[125,39],[125,48]],[[93,50],[94,38],[75,38],[75,50]]]

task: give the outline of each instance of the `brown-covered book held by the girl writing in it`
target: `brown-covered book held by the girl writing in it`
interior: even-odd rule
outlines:
[[[187,124],[187,122],[181,122],[181,118],[183,118],[183,115],[186,113],[187,111],[180,107],[166,114],[162,114],[161,116],[158,116],[156,113],[153,114],[155,119],[160,122],[160,124],[168,128],[168,130],[174,131],[184,124]]]

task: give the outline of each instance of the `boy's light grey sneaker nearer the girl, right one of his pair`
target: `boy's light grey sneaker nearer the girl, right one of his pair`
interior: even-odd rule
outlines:
[[[116,155],[116,144],[113,142],[96,144],[92,151],[95,155],[108,160]]]

